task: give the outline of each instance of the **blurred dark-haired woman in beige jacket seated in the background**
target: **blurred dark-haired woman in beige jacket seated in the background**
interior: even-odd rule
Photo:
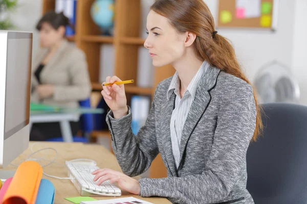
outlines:
[[[36,25],[40,46],[32,67],[33,103],[77,108],[78,101],[91,93],[91,82],[83,51],[65,38],[65,27],[69,19],[64,14],[49,12]],[[79,129],[78,122],[71,122],[72,133]],[[43,141],[60,137],[58,122],[35,123],[30,140]]]

